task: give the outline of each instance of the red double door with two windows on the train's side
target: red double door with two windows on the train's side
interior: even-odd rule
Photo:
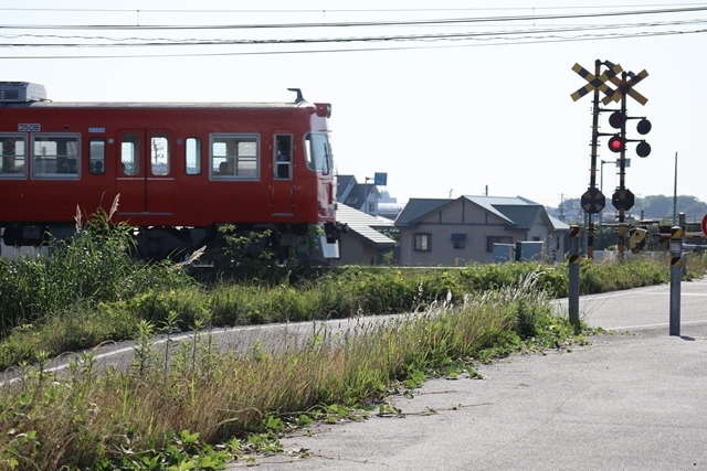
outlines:
[[[118,213],[172,214],[175,169],[172,133],[167,129],[122,129],[116,159]]]

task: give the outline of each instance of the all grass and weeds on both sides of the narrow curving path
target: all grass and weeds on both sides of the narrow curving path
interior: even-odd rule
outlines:
[[[109,225],[110,213],[83,225],[77,214],[77,236],[52,257],[0,264],[0,365],[20,377],[0,388],[0,469],[222,469],[281,451],[279,433],[313,420],[395,414],[386,397],[429,375],[474,376],[476,362],[587,342],[552,315],[567,266],[347,267],[314,279],[261,270],[202,285],[189,266],[133,261],[130,228]],[[688,267],[687,279],[703,276],[705,256]],[[585,261],[580,272],[588,293],[667,282],[669,264]],[[345,331],[320,322],[397,312]],[[284,321],[312,322],[312,335],[219,353],[207,333]],[[180,331],[189,336],[177,342]],[[135,341],[129,370],[98,374],[92,349],[125,339]],[[48,371],[71,351],[81,353],[65,374]]]

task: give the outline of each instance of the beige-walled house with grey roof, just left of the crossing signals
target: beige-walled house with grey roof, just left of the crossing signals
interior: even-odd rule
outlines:
[[[400,264],[465,266],[494,261],[494,247],[536,243],[546,260],[562,260],[569,226],[520,196],[411,199],[395,218]]]

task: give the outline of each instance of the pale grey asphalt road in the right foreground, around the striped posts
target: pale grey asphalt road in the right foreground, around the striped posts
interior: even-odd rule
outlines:
[[[318,425],[283,439],[310,458],[257,469],[707,469],[707,280],[682,283],[680,336],[668,286],[582,297],[580,311],[619,333],[481,365],[483,379],[428,381],[394,399],[402,417]]]

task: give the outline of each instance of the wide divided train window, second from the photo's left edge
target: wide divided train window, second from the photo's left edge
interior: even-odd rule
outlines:
[[[78,135],[32,136],[32,178],[77,179]]]

